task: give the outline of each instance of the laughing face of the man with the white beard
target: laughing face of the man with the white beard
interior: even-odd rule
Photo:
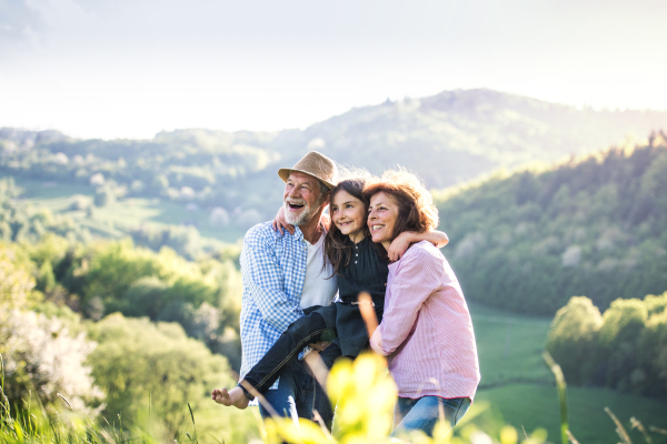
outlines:
[[[283,206],[288,223],[299,226],[319,211],[323,203],[319,181],[312,175],[292,172],[285,184]]]

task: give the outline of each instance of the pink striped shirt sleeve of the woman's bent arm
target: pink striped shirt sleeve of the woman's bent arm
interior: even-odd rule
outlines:
[[[382,322],[370,337],[370,346],[382,356],[394,353],[406,341],[421,305],[442,284],[442,264],[419,244],[406,252],[399,266],[391,281],[391,299],[385,306]]]

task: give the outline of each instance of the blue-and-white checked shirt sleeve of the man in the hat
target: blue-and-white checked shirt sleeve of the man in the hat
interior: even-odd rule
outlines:
[[[303,315],[299,303],[285,293],[285,275],[276,251],[263,236],[246,240],[242,250],[243,279],[262,317],[283,332]]]

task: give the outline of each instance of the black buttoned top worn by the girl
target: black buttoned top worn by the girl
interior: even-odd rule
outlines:
[[[317,310],[327,329],[338,335],[335,341],[344,356],[357,356],[368,345],[368,331],[359,306],[352,305],[360,292],[370,293],[378,322],[382,321],[388,265],[388,260],[380,259],[370,236],[367,236],[355,245],[350,263],[338,271],[338,295],[342,302]]]

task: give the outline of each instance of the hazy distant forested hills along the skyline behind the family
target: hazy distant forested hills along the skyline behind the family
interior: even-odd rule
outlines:
[[[445,188],[500,167],[554,162],[616,143],[628,132],[645,137],[665,127],[667,112],[578,110],[490,90],[457,90],[356,108],[303,131],[179,130],[152,140],[100,141],[0,129],[0,173],[81,184],[94,176],[92,185],[106,181],[106,191],[120,198],[197,202],[245,212],[251,224],[273,215],[280,203],[276,170],[309,149],[375,172],[401,164],[429,188]]]

